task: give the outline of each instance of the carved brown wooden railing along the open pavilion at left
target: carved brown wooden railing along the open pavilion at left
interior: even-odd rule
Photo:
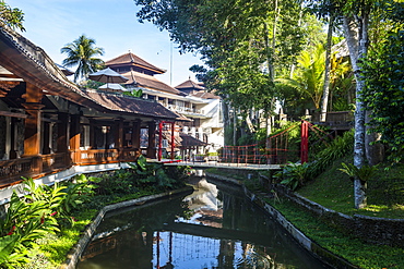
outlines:
[[[22,176],[35,179],[71,166],[130,162],[139,156],[136,148],[90,149],[3,160],[0,161],[0,187],[17,184]]]

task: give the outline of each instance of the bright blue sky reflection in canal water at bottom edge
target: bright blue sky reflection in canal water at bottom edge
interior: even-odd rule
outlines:
[[[153,268],[285,268],[275,266],[271,248],[249,243],[173,232],[155,236],[159,240],[153,247]]]

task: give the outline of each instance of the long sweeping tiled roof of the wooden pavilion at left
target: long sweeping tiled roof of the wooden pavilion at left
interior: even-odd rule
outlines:
[[[56,66],[46,52],[12,29],[0,27],[0,63],[49,95],[60,96],[98,111],[183,121],[158,102],[122,95],[81,90]],[[153,77],[153,76],[151,76]]]

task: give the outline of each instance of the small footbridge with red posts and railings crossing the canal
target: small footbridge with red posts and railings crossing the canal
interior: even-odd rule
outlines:
[[[311,131],[309,133],[309,131]],[[289,139],[294,137],[294,139]],[[246,170],[280,170],[288,162],[308,162],[309,146],[332,139],[326,133],[314,124],[302,120],[288,129],[252,145],[224,146],[215,160],[204,159],[158,159],[165,166],[189,166],[192,168],[231,168]],[[290,143],[294,140],[294,143]],[[310,144],[310,145],[309,145]]]

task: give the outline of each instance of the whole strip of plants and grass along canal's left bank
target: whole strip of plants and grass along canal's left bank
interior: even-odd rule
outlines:
[[[141,157],[132,169],[100,178],[82,174],[52,186],[27,179],[25,195],[14,193],[5,217],[0,219],[0,268],[51,268],[47,259],[60,264],[97,209],[181,187],[188,174],[188,167],[165,168]],[[52,237],[55,233],[57,237]]]

